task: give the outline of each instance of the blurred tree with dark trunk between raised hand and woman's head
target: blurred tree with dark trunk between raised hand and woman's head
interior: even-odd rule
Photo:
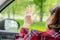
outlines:
[[[46,0],[34,0],[34,3],[40,8],[40,22],[43,19],[44,2]]]

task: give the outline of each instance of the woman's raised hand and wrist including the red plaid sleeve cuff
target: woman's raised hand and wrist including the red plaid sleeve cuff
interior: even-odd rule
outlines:
[[[32,7],[28,5],[25,11],[25,18],[24,18],[24,24],[20,30],[20,34],[25,35],[29,31],[29,26],[33,23],[34,17],[32,15],[33,10],[31,10]]]

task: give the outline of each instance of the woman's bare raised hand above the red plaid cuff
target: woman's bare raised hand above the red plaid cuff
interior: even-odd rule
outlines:
[[[25,11],[25,19],[24,19],[24,26],[23,27],[28,27],[30,24],[34,22],[34,16],[33,16],[33,8],[30,7],[30,5],[26,8]]]

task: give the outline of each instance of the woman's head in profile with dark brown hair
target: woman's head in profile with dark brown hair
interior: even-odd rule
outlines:
[[[60,4],[52,7],[50,9],[51,15],[47,19],[46,26],[49,29],[59,29],[60,28]]]

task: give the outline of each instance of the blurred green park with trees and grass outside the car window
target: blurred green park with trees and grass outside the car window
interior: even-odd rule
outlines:
[[[36,16],[36,20],[30,25],[30,30],[46,30],[46,20],[50,15],[50,8],[53,5],[59,4],[60,0],[15,0],[11,5],[4,9],[0,14],[0,20],[5,18],[15,19],[20,23],[22,27],[24,23],[24,14],[28,5],[34,9],[33,14]],[[20,28],[21,28],[20,27]]]

